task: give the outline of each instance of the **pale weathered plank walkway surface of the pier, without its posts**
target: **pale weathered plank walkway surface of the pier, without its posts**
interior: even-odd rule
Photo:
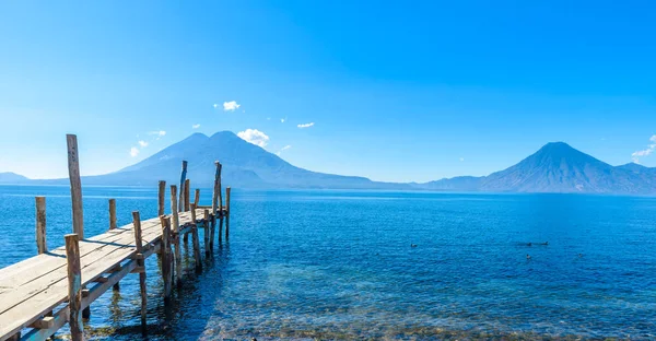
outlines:
[[[207,226],[203,219],[192,222],[191,212],[183,212],[178,216],[180,234],[187,233],[185,226],[191,224]],[[196,216],[203,216],[203,209],[196,209]],[[161,247],[160,217],[141,221],[141,234],[142,254],[147,258]],[[80,240],[81,283],[90,287],[82,308],[93,301],[90,296],[99,296],[137,269],[134,240],[132,224]],[[67,307],[52,317],[43,318],[69,298],[66,256],[66,247],[62,246],[0,269],[0,339],[4,340],[31,326],[57,330],[68,321]],[[32,339],[38,333],[44,332],[37,328],[22,339]]]

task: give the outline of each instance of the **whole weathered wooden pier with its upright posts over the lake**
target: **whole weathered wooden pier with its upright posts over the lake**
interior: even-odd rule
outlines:
[[[171,213],[165,214],[166,183],[159,183],[159,216],[141,220],[132,212],[132,223],[116,226],[116,201],[109,200],[108,231],[84,237],[82,188],[75,136],[67,136],[69,176],[73,210],[73,233],[62,236],[65,246],[48,250],[46,246],[46,198],[36,198],[36,244],[38,255],[0,269],[0,341],[46,340],[67,322],[72,340],[84,340],[83,318],[90,318],[90,305],[129,273],[139,273],[141,326],[147,331],[144,260],[153,254],[161,259],[164,303],[168,304],[174,286],[183,283],[180,240],[191,235],[195,267],[202,271],[199,231],[203,231],[206,257],[211,257],[214,230],[219,224],[222,240],[223,220],[229,238],[230,187],[223,205],[221,164],[215,162],[212,204],[200,205],[199,190],[189,202],[190,180],[183,161],[179,192],[171,186]],[[155,185],[155,184],[153,184]],[[179,197],[178,197],[179,195]],[[152,269],[151,269],[152,270]]]

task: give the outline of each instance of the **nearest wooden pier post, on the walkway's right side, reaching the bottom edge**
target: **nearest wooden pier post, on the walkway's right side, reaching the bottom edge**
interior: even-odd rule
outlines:
[[[84,340],[82,329],[82,273],[80,270],[80,245],[77,234],[68,234],[66,239],[66,260],[69,282],[69,325],[73,341]]]

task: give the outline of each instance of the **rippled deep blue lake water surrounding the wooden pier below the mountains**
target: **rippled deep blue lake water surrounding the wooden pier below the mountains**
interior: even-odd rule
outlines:
[[[0,186],[0,267],[36,254],[35,195],[50,248],[72,230],[68,187]],[[155,186],[87,187],[86,235],[109,198],[119,225],[156,215]],[[656,198],[235,189],[231,205],[230,244],[169,307],[147,262],[150,340],[656,338]],[[96,339],[141,337],[137,279],[92,305]]]

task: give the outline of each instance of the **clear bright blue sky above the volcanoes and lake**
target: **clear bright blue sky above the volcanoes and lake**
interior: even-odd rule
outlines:
[[[91,175],[221,130],[257,130],[294,165],[376,180],[485,175],[550,141],[656,166],[655,12],[649,1],[3,1],[0,172],[66,177],[67,132]]]

